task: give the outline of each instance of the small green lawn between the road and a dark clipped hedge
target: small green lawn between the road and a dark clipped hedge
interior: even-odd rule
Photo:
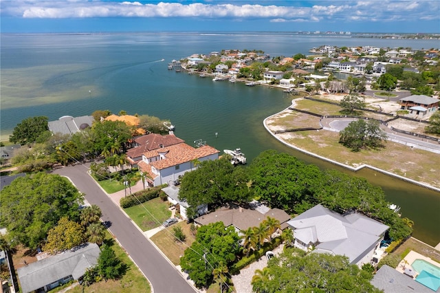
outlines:
[[[159,227],[171,216],[168,202],[162,201],[160,197],[124,210],[142,231]]]

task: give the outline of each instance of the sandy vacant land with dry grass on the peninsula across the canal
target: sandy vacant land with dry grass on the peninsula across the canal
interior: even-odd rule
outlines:
[[[342,95],[326,95],[342,98]],[[315,105],[313,104],[315,103]],[[293,106],[298,109],[307,109],[314,113],[331,113],[339,111],[336,105],[311,100],[296,99]],[[317,111],[319,109],[319,111]],[[383,107],[385,109],[385,107]],[[388,110],[391,111],[390,108]],[[380,115],[380,114],[379,114]],[[319,118],[305,113],[295,112],[287,109],[266,120],[270,131],[298,129],[303,127],[314,127]],[[421,124],[421,123],[418,123]],[[393,124],[396,128],[404,130],[421,129],[423,126],[417,122],[396,120]],[[298,131],[280,133],[278,138],[300,149],[305,149],[325,158],[341,162],[348,166],[360,166],[369,164],[385,171],[408,177],[418,182],[431,186],[440,187],[438,173],[440,172],[439,155],[420,149],[411,149],[403,144],[387,141],[384,149],[362,150],[353,153],[339,144],[339,134],[333,131]],[[402,159],[404,158],[404,159]]]

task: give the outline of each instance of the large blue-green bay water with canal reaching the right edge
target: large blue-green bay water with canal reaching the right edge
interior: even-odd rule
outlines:
[[[157,116],[171,120],[176,135],[188,144],[201,139],[221,151],[241,147],[248,162],[261,151],[277,149],[322,169],[366,177],[401,206],[403,217],[415,221],[415,237],[436,245],[438,193],[370,170],[353,173],[337,168],[281,145],[265,131],[263,119],[290,105],[283,91],[212,82],[167,69],[173,59],[191,54],[255,49],[271,56],[293,56],[320,45],[421,49],[437,48],[439,41],[286,33],[2,34],[1,138],[7,139],[15,125],[30,116],[56,120],[90,115],[96,109]]]

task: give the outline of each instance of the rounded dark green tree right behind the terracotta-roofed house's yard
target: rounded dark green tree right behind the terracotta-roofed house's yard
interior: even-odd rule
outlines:
[[[227,202],[248,202],[252,199],[248,182],[248,174],[225,158],[203,161],[181,178],[179,198],[190,205],[188,216],[191,217],[201,204],[215,208]]]

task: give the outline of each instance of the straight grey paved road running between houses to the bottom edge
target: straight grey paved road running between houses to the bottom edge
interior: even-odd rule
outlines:
[[[87,166],[76,165],[57,169],[54,173],[70,178],[76,187],[85,193],[90,204],[102,210],[101,219],[109,221],[109,230],[135,261],[153,285],[155,293],[194,293],[177,269],[156,250],[151,242],[137,229],[111,199],[87,174]]]

